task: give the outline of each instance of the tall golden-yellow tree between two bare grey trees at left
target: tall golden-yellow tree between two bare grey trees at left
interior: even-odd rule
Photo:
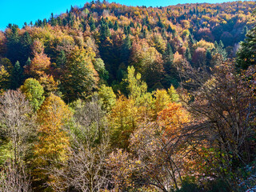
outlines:
[[[49,180],[42,168],[50,166],[55,161],[65,161],[67,158],[69,138],[63,126],[69,121],[71,112],[61,98],[50,94],[38,110],[38,141],[34,146],[34,177],[39,182]]]

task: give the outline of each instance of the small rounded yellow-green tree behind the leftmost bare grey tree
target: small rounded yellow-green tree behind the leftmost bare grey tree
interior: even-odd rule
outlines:
[[[45,99],[43,96],[44,90],[40,83],[34,78],[27,78],[24,85],[21,86],[21,90],[26,95],[34,111],[37,111]]]

